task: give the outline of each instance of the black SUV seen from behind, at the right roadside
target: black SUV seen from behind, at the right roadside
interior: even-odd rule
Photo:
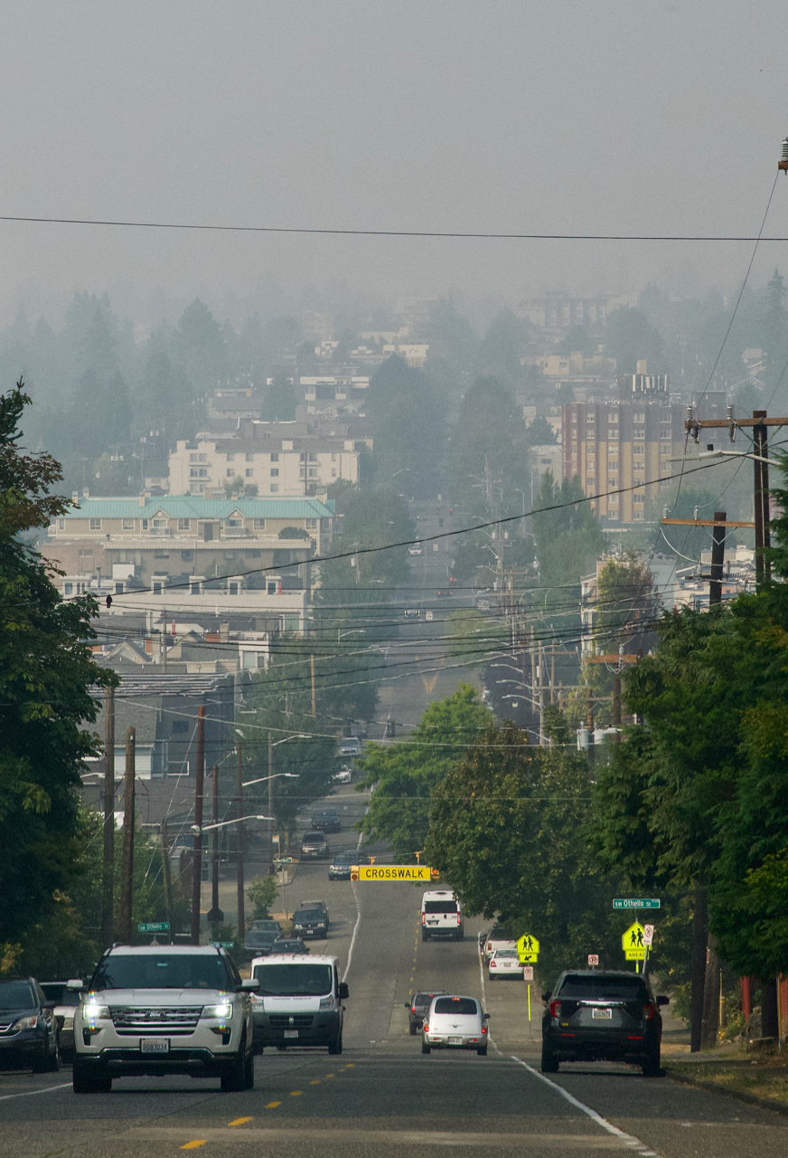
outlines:
[[[634,1062],[646,1077],[660,1076],[662,1014],[667,997],[654,997],[638,973],[574,969],[543,996],[542,1071],[560,1062]]]

